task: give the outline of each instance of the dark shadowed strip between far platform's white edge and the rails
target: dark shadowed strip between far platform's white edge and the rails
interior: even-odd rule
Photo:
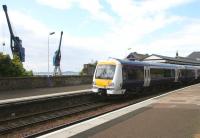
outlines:
[[[69,94],[64,96],[0,104],[0,122],[59,110],[65,107],[77,105],[81,102],[94,100],[94,94],[91,92],[84,92],[80,94]]]

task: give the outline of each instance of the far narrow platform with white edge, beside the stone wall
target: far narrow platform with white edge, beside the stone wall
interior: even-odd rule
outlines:
[[[87,92],[90,90],[91,90],[91,84],[79,85],[79,86],[0,91],[0,104],[9,103],[12,101],[22,101],[22,100],[37,99],[42,97],[52,97],[52,96]]]

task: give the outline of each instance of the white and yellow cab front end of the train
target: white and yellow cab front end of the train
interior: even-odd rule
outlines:
[[[98,62],[93,77],[92,91],[99,94],[123,94],[122,87],[122,65],[119,61],[112,59]]]

